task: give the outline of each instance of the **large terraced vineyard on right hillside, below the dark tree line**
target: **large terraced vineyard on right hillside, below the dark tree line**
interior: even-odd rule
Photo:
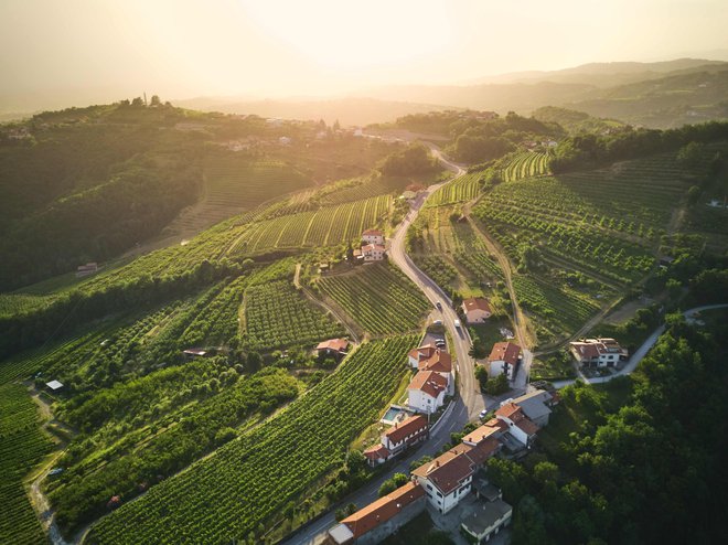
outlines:
[[[652,248],[686,190],[672,156],[659,156],[503,184],[474,214],[513,257],[535,238],[547,258],[628,285],[652,267]]]

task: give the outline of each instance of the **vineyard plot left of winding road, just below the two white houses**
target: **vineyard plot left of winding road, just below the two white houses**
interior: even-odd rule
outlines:
[[[430,308],[419,289],[388,265],[364,265],[353,272],[321,278],[317,286],[364,330],[377,335],[418,329]]]

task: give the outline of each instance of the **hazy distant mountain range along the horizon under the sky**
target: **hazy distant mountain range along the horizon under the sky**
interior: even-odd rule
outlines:
[[[632,125],[667,128],[728,118],[728,63],[678,58],[656,63],[590,63],[554,72],[489,76],[467,85],[399,85],[331,99],[195,98],[176,105],[265,117],[367,125],[407,114],[471,108],[529,115],[566,107]]]

